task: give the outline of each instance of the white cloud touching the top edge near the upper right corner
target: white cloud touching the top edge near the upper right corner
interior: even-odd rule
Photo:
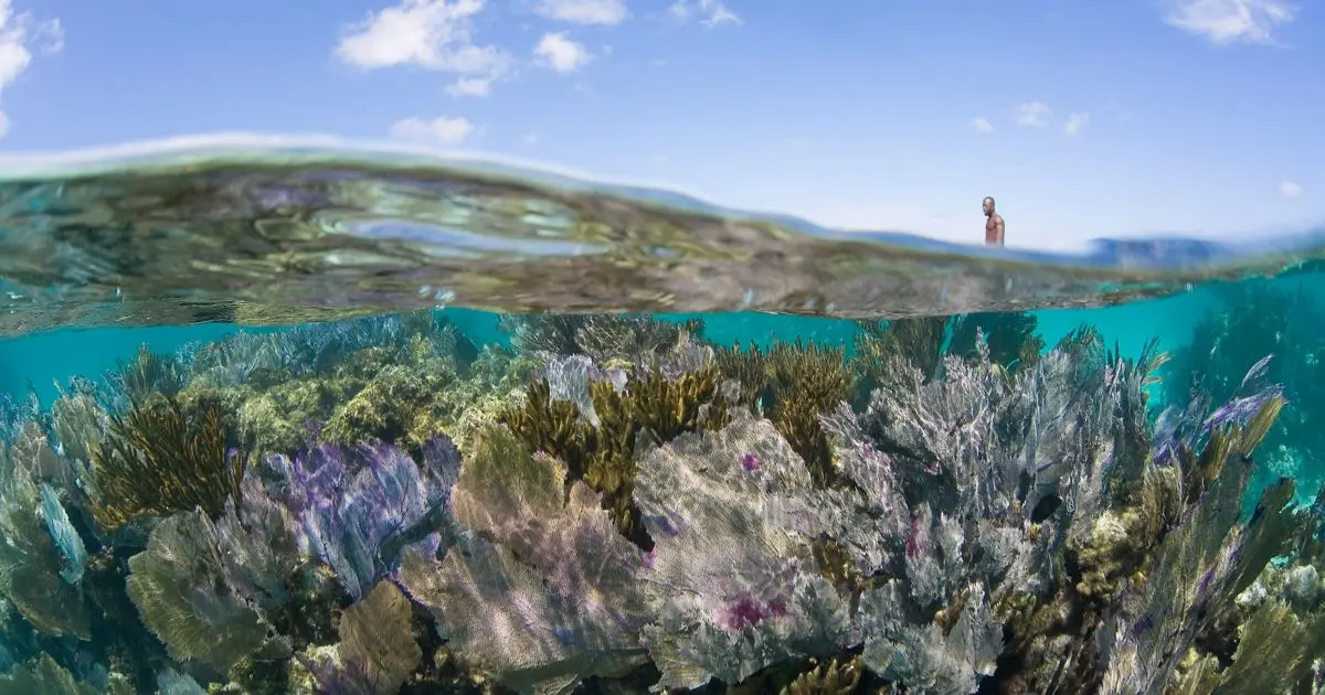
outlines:
[[[1165,19],[1216,45],[1273,44],[1275,29],[1297,19],[1297,9],[1283,0],[1173,0]]]

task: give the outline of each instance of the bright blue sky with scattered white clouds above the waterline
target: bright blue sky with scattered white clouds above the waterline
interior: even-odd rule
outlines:
[[[3,151],[403,139],[1008,244],[1325,221],[1305,0],[0,0]],[[1316,9],[1316,12],[1313,12]]]

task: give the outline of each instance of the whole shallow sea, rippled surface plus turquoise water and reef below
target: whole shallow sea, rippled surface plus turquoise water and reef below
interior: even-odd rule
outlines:
[[[1313,237],[0,171],[0,694],[1325,692]]]

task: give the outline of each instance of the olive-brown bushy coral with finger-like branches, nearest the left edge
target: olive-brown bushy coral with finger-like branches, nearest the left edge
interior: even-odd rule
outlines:
[[[244,457],[228,447],[219,402],[186,408],[152,398],[111,421],[93,454],[93,512],[109,530],[193,507],[215,519],[238,495]]]

